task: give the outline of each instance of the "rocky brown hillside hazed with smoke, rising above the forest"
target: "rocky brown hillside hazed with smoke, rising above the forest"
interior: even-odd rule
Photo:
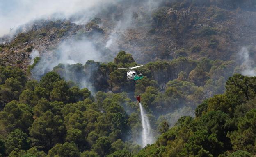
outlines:
[[[230,7],[216,1],[165,1],[151,10],[145,10],[144,1],[120,2],[83,25],[39,20],[27,32],[18,33],[10,43],[2,44],[1,56],[5,64],[20,64],[25,68],[30,48],[42,54],[70,38],[93,41],[100,56],[110,56],[103,61],[111,61],[120,49],[131,53],[138,63],[171,60],[181,49],[184,53],[179,55],[195,60],[202,57],[237,60],[238,52],[247,46],[254,53],[255,12],[248,9],[250,4]],[[139,7],[133,8],[135,5]],[[128,11],[130,8],[133,10]]]

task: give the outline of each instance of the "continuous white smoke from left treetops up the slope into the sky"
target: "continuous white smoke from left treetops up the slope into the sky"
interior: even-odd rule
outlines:
[[[122,35],[128,29],[136,29],[135,21],[137,23],[140,22],[140,24],[148,23],[149,21],[145,22],[144,19],[150,19],[152,9],[157,7],[160,1],[0,0],[0,21],[3,21],[0,25],[0,36],[6,33],[9,33],[11,36],[10,33],[16,34],[27,31],[31,29],[33,22],[37,20],[54,21],[62,19],[83,25],[93,18],[102,19],[103,22],[100,26],[103,28],[105,36],[98,37],[100,40],[95,38],[75,40],[75,37],[69,36],[67,37],[69,39],[60,42],[56,49],[40,51],[40,61],[32,69],[32,76],[39,80],[45,73],[52,71],[59,63],[85,64],[87,60],[98,62],[112,60],[112,56],[120,50],[119,40],[123,40]],[[116,10],[112,10],[112,8]],[[133,13],[139,14],[137,20],[133,18]],[[107,50],[105,51],[104,49]],[[109,51],[112,54],[108,53]],[[34,56],[38,55],[38,51],[33,51],[31,54],[32,60]],[[82,88],[91,86],[85,80],[83,84]]]

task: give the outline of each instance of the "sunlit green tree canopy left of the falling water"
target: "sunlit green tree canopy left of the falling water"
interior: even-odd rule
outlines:
[[[88,89],[68,84],[55,72],[37,82],[27,80],[16,67],[0,68],[0,91],[9,91],[1,94],[2,156],[103,157],[125,147],[140,149],[125,140],[131,124],[139,123],[129,121],[123,106],[135,104],[125,93],[98,92],[94,98]]]

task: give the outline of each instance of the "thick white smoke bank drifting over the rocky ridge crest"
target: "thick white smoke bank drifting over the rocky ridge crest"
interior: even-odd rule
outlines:
[[[161,1],[161,0],[160,0]],[[157,6],[160,1],[145,0],[145,10]],[[34,20],[69,19],[76,24],[86,24],[109,6],[125,0],[0,0],[0,37],[14,34],[17,29],[26,31],[25,25]],[[132,3],[132,1],[131,1]],[[136,2],[135,2],[136,3]],[[132,6],[128,10],[134,10]],[[124,11],[125,12],[125,11]],[[126,21],[126,20],[123,20]],[[130,24],[129,24],[130,25]],[[128,26],[128,25],[123,25]]]

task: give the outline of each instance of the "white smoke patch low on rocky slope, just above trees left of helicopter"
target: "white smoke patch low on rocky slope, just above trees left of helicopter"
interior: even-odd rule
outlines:
[[[37,51],[33,51],[35,54]],[[33,55],[34,56],[34,55]],[[96,46],[87,38],[82,40],[69,39],[63,41],[53,51],[46,51],[41,53],[40,61],[32,69],[32,77],[36,80],[47,72],[52,71],[58,64],[85,64],[88,60],[103,61],[106,56],[103,57],[102,53],[96,48]],[[65,76],[66,80],[74,76]],[[81,80],[79,82],[80,88],[88,88],[93,90],[91,84],[85,78],[77,78]]]

